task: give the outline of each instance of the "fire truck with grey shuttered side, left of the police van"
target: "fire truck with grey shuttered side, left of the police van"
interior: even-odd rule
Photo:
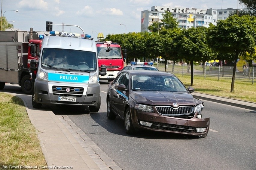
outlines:
[[[30,61],[38,60],[44,31],[0,31],[0,89],[5,83],[19,84],[26,94],[33,91]]]

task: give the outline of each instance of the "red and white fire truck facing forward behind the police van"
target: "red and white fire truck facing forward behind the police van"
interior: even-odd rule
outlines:
[[[107,66],[107,75],[99,76],[99,80],[112,81],[117,73],[123,69],[126,49],[116,42],[96,42],[99,66]]]

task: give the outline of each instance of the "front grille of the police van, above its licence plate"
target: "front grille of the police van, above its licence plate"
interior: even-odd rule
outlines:
[[[60,89],[57,89],[57,88],[60,88]],[[66,92],[67,88],[70,89],[69,92]],[[79,91],[75,91],[75,89]],[[83,87],[52,86],[52,90],[53,90],[53,95],[58,95],[58,96],[81,97],[84,93]]]

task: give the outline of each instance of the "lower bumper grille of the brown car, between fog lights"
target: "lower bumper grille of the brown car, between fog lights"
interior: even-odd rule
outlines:
[[[165,124],[165,123],[153,123],[150,128],[159,129],[159,130],[168,130],[168,131],[173,131],[173,132],[195,133],[194,127]]]

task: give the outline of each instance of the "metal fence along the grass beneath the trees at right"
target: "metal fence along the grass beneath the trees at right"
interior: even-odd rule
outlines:
[[[165,64],[155,63],[155,67],[157,67],[160,71],[165,71]],[[166,66],[166,72],[170,73],[179,73],[179,74],[191,74],[191,66],[187,64],[175,64],[168,63]],[[233,76],[233,66],[205,66],[205,65],[194,65],[194,75],[213,77],[217,76],[218,79],[221,77],[231,78]],[[254,79],[256,78],[256,68],[255,67],[248,67],[248,74],[243,73],[241,68],[236,69],[236,78],[248,79],[251,81],[252,84],[254,83]]]

